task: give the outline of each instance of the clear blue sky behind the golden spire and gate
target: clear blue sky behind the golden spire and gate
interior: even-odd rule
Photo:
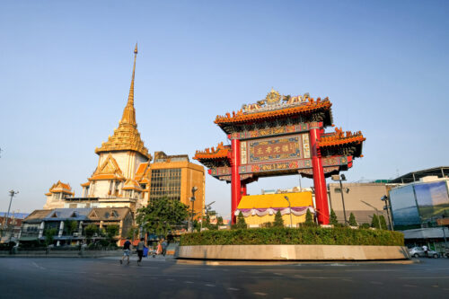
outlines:
[[[329,96],[335,125],[363,132],[350,181],[448,165],[448,13],[446,1],[3,1],[0,211],[10,189],[21,212],[57,180],[81,194],[125,107],[136,41],[151,153],[226,144],[216,115],[274,87]],[[262,179],[249,192],[297,184]],[[207,176],[206,189],[229,215],[230,185]]]

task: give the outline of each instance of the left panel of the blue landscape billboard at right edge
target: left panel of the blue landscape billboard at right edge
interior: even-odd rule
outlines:
[[[420,226],[413,185],[390,190],[390,201],[395,229],[401,229],[401,226]]]

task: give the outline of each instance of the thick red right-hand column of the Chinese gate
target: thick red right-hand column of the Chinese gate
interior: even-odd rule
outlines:
[[[321,156],[318,155],[318,141],[321,136],[321,131],[318,127],[312,127],[310,130],[313,186],[315,189],[315,203],[318,212],[318,223],[329,224],[328,191],[326,189],[326,180],[324,180],[324,171],[322,169]]]

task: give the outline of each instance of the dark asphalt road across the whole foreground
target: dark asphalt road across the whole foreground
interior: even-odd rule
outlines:
[[[449,259],[209,266],[147,258],[0,259],[4,298],[448,298]]]

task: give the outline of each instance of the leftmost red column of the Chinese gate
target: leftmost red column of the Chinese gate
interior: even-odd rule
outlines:
[[[235,224],[235,209],[239,205],[240,198],[242,198],[242,186],[240,182],[240,140],[231,140],[231,220]]]

